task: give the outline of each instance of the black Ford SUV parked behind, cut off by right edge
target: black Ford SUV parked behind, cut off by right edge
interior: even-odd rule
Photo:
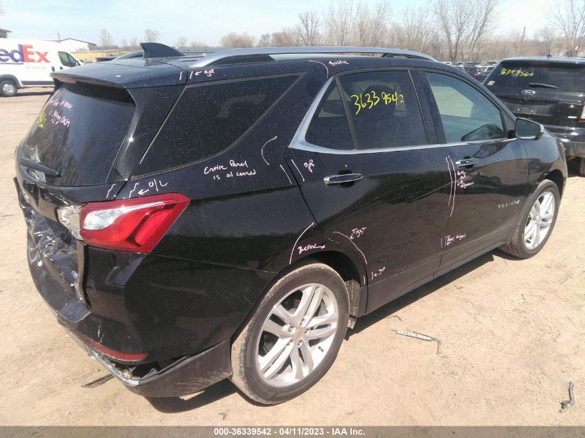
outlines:
[[[483,82],[518,117],[530,118],[565,142],[567,158],[585,175],[585,58],[503,60]]]

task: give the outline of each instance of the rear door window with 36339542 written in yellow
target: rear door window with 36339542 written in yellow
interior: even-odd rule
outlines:
[[[408,71],[372,71],[339,78],[355,149],[426,144],[417,95]]]

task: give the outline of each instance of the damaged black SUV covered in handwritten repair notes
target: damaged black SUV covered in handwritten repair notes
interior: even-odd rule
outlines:
[[[53,73],[15,179],[39,293],[138,394],[231,378],[291,399],[357,317],[550,237],[560,140],[458,69],[386,48],[144,47]]]

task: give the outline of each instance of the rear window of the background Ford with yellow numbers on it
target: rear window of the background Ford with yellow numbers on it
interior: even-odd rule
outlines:
[[[584,65],[546,61],[502,62],[492,71],[487,85],[514,88],[543,87],[565,91],[584,89]],[[489,82],[494,81],[492,84]]]

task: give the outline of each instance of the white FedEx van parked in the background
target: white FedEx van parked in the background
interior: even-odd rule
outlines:
[[[60,44],[38,39],[0,39],[0,95],[28,86],[53,86],[50,74],[81,63]]]

